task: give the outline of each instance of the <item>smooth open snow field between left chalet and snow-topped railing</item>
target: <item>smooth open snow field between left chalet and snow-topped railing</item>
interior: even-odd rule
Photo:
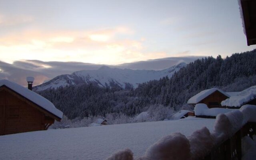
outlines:
[[[134,156],[142,156],[163,136],[175,132],[190,136],[204,126],[212,132],[214,122],[215,119],[188,117],[5,135],[0,136],[0,159],[104,160],[125,148],[132,150]]]

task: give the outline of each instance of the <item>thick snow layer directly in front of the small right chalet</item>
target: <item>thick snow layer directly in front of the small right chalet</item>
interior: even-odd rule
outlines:
[[[195,106],[195,115],[196,116],[217,116],[218,114],[224,114],[230,112],[234,109],[228,108],[208,108],[206,104],[198,103]]]

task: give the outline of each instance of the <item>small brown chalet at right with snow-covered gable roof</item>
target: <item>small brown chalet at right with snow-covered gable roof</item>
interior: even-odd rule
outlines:
[[[188,104],[195,106],[199,103],[206,104],[209,108],[222,108],[221,102],[230,96],[218,88],[203,90],[191,97]]]

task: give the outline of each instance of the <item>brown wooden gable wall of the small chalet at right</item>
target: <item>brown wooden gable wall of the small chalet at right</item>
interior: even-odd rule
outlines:
[[[201,100],[199,103],[204,103],[208,106],[208,108],[215,108],[215,107],[222,107],[221,102],[223,100],[226,100],[228,97],[222,94],[219,91],[215,91],[203,100]]]

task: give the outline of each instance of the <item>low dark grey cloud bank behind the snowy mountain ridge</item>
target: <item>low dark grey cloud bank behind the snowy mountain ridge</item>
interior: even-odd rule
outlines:
[[[178,62],[189,63],[199,56],[169,57],[154,60],[125,63],[120,65],[108,65],[111,68],[130,68],[141,70],[162,70],[176,65]],[[34,85],[39,85],[61,74],[71,74],[79,70],[97,70],[102,64],[83,62],[44,62],[40,60],[14,61],[12,64],[0,61],[0,79],[8,79],[23,86],[27,85],[26,77],[35,77]]]

